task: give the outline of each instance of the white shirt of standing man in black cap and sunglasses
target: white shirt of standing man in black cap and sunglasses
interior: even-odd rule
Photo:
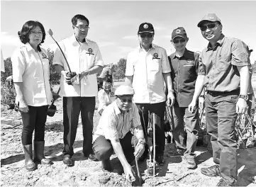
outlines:
[[[166,101],[163,74],[171,72],[166,50],[152,44],[145,51],[138,46],[128,53],[126,76],[133,76],[135,103],[161,103]]]

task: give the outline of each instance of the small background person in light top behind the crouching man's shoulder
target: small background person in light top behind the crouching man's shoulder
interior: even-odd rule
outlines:
[[[104,111],[104,108],[108,106],[111,102],[110,92],[112,87],[112,79],[109,75],[107,75],[104,79],[102,79],[102,89],[98,92],[99,99],[99,107],[98,112],[99,115]]]

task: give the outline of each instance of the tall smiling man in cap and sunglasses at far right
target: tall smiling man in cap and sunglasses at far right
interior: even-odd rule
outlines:
[[[235,120],[246,111],[249,54],[244,42],[223,35],[221,19],[215,13],[206,14],[197,26],[209,41],[199,56],[199,67],[204,67],[206,76],[199,75],[196,79],[189,111],[194,111],[206,78],[206,129],[211,135],[216,163],[202,168],[201,173],[221,176],[217,186],[234,186],[238,175]]]

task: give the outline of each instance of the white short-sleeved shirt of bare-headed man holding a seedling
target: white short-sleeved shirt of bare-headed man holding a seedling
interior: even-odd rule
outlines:
[[[69,67],[72,72],[77,74],[90,69],[96,65],[103,67],[104,63],[101,57],[99,46],[96,42],[89,39],[85,39],[85,42],[80,43],[77,41],[74,35],[69,38],[65,38],[59,42],[62,51],[67,58]],[[57,47],[55,49],[52,64],[59,64],[66,71],[69,71],[67,62],[62,55],[62,52]],[[89,74],[84,77],[79,85],[69,85],[66,83],[63,76],[60,79],[60,95],[67,97],[91,97],[98,94],[98,84],[96,74]]]

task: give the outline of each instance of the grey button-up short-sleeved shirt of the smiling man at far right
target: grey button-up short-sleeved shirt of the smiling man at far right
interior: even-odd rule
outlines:
[[[240,74],[237,67],[250,63],[247,46],[241,40],[221,35],[216,46],[208,44],[199,55],[199,64],[206,70],[208,91],[234,91],[240,87]]]

